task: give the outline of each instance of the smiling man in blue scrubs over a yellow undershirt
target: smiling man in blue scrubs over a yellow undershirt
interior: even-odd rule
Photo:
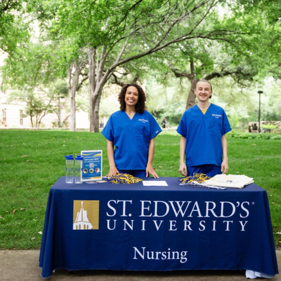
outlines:
[[[229,121],[221,107],[209,102],[213,93],[209,81],[199,80],[194,93],[197,104],[184,112],[177,128],[181,135],[179,172],[184,176],[226,174]]]

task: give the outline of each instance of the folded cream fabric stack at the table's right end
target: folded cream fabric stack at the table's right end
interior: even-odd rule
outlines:
[[[215,175],[211,179],[208,179],[204,184],[212,186],[224,186],[233,188],[243,188],[247,184],[253,183],[253,178],[249,178],[245,175]]]

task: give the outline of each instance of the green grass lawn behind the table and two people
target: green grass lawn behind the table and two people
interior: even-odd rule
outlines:
[[[49,189],[65,175],[64,155],[103,150],[100,133],[0,130],[0,249],[34,249],[41,244]],[[175,131],[155,138],[158,175],[179,177],[179,140]],[[171,156],[172,155],[172,156]],[[266,189],[273,235],[281,246],[281,140],[228,138],[229,174],[246,174]]]

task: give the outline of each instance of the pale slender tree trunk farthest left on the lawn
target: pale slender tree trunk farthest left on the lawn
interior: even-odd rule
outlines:
[[[74,77],[72,78],[72,71],[74,68]],[[75,117],[75,93],[78,86],[78,79],[80,75],[80,68],[78,64],[73,63],[68,70],[68,95],[69,95],[69,107],[70,107],[70,122],[69,131],[76,131],[76,117]]]

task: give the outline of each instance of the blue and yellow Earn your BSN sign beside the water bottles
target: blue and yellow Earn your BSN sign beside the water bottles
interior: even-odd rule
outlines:
[[[82,150],[83,164],[82,181],[97,181],[102,179],[102,150]]]

